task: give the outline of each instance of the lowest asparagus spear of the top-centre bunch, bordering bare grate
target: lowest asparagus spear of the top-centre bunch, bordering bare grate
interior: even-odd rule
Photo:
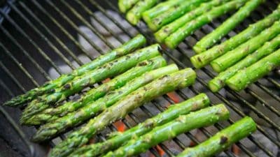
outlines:
[[[195,20],[187,22],[181,28],[177,29],[165,39],[165,44],[169,48],[174,49],[177,45],[179,45],[179,43],[181,43],[181,41],[183,41],[187,36],[190,36],[190,34],[197,29],[200,29],[200,27],[204,24],[211,22],[216,17],[225,15],[232,10],[236,10],[240,6],[243,6],[245,2],[246,0],[234,0],[212,8],[209,12],[200,15]]]

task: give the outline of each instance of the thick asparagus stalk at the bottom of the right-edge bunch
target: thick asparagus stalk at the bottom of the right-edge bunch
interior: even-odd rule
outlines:
[[[253,65],[239,70],[235,75],[226,80],[225,83],[235,91],[245,89],[248,84],[251,84],[259,78],[267,75],[276,66],[280,66],[280,50],[269,54],[267,57],[260,59],[260,61],[253,63]]]

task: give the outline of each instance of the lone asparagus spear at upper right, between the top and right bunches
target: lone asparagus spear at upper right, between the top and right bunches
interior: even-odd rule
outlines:
[[[242,22],[250,13],[257,8],[260,3],[262,3],[264,0],[251,0],[246,2],[246,4],[241,7],[235,15],[232,15],[232,17],[228,18],[221,26],[216,28],[214,31],[209,33],[207,36],[204,36],[202,40],[197,42],[195,46],[193,47],[193,50],[195,52],[201,53],[206,51],[209,47],[213,46],[215,43],[218,42],[218,40],[221,40],[223,36],[228,34],[232,29],[234,29],[237,24]]]

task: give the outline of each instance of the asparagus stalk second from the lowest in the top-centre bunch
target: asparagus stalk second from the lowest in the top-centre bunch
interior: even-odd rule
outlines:
[[[160,43],[164,42],[165,38],[167,38],[167,36],[174,33],[177,29],[182,27],[184,24],[186,24],[187,22],[190,22],[195,17],[202,15],[203,13],[205,13],[205,10],[211,10],[211,8],[213,8],[214,6],[219,6],[222,3],[225,3],[225,1],[229,1],[229,0],[223,0],[223,1],[213,0],[213,1],[209,1],[207,3],[202,3],[199,7],[195,8],[194,10],[191,10],[189,13],[186,13],[179,19],[165,25],[160,30],[158,30],[154,34],[155,39]]]

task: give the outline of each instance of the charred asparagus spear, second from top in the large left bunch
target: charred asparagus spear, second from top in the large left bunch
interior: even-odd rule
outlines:
[[[67,96],[75,94],[85,87],[88,87],[96,82],[100,82],[108,77],[113,77],[114,75],[123,73],[133,66],[136,66],[136,64],[140,61],[158,56],[160,54],[158,48],[158,44],[145,47],[141,50],[137,50],[137,52],[127,54],[124,57],[105,63],[103,66],[100,66],[90,73],[76,77],[76,79],[72,82],[69,82],[65,84],[64,87],[56,90],[55,93],[44,95],[39,97],[37,100],[33,100],[25,108],[25,111],[22,114],[23,119],[28,119],[32,115],[45,110],[45,108],[48,108],[48,106],[52,103],[58,103],[65,100]]]

